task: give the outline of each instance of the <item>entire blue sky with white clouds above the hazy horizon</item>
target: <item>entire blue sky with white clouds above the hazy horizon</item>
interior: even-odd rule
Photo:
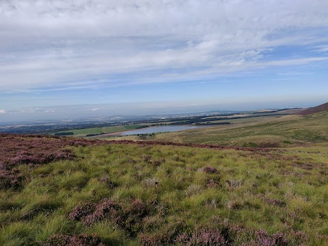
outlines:
[[[312,107],[328,101],[327,12],[327,0],[0,0],[0,121]]]

